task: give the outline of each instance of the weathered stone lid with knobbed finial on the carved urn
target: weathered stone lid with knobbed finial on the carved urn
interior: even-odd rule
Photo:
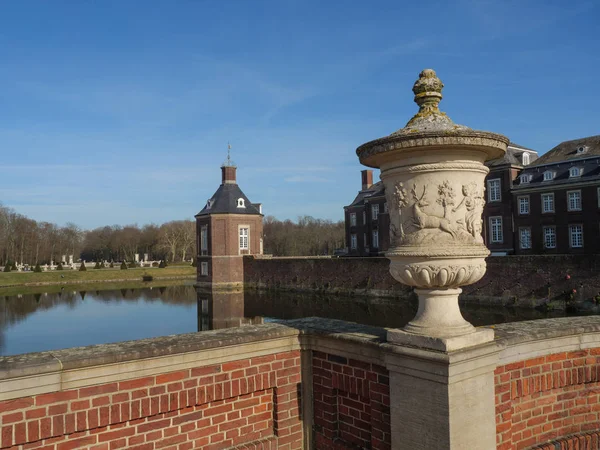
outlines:
[[[378,156],[384,153],[429,146],[469,146],[484,150],[488,153],[487,159],[502,156],[509,143],[507,137],[455,124],[446,113],[440,111],[443,88],[444,84],[435,71],[423,70],[413,86],[419,112],[404,128],[358,147],[356,154],[361,164],[379,167]]]

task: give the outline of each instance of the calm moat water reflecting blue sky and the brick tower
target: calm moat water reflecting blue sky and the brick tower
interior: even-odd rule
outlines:
[[[0,297],[0,355],[57,350],[319,316],[401,327],[415,301],[311,293],[197,293],[192,285]],[[560,317],[528,309],[463,305],[474,325]]]

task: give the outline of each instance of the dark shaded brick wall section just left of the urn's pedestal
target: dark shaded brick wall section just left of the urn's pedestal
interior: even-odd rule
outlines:
[[[391,449],[387,369],[313,352],[313,396],[316,449]]]

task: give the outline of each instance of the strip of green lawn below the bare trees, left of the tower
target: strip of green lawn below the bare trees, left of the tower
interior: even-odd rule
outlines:
[[[170,278],[194,278],[196,268],[186,266],[168,266],[159,268],[135,268],[121,270],[93,269],[88,267],[85,272],[78,270],[58,270],[53,272],[0,272],[0,289],[13,286],[67,285],[80,283],[98,283],[110,281],[142,281],[142,276],[152,275],[155,280]]]

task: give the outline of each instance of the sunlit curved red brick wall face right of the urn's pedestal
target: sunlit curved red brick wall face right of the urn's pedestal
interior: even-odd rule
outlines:
[[[557,440],[558,447],[539,448],[599,448],[579,446],[579,437],[564,439],[600,430],[599,381],[600,349],[499,366],[495,371],[498,450],[526,449]]]

